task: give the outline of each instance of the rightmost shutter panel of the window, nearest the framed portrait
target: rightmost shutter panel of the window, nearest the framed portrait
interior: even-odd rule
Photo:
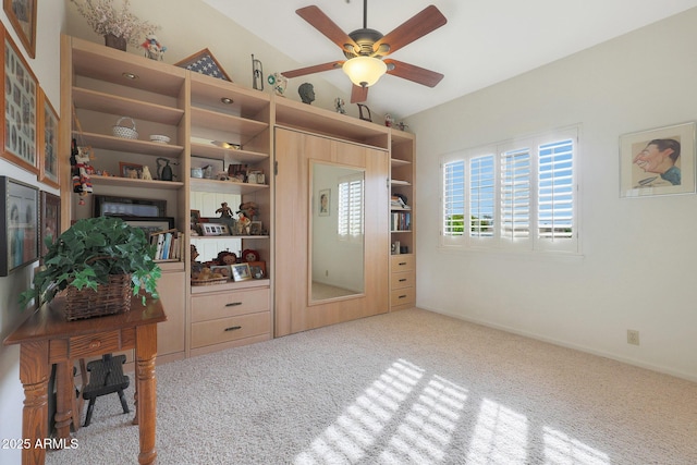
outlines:
[[[538,163],[538,236],[551,241],[573,238],[573,139],[541,145]]]

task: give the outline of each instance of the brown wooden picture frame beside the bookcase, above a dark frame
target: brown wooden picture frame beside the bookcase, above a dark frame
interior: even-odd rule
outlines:
[[[39,87],[39,124],[37,148],[39,155],[39,182],[60,188],[60,163],[58,162],[58,113]]]

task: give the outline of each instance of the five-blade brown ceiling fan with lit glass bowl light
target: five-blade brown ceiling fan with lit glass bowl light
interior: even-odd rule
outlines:
[[[295,13],[298,16],[322,33],[329,40],[337,44],[346,60],[285,71],[281,74],[285,77],[297,77],[322,71],[343,69],[354,84],[351,93],[352,103],[366,101],[368,87],[377,83],[380,76],[386,73],[435,87],[443,78],[442,74],[398,60],[383,60],[383,57],[444,25],[448,22],[445,16],[431,4],[383,36],[378,30],[367,27],[367,8],[368,0],[364,0],[363,28],[350,34],[345,34],[316,5],[296,10]]]

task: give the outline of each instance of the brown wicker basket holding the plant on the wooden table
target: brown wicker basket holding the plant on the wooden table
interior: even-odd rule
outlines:
[[[65,319],[73,321],[129,311],[132,296],[131,274],[111,274],[109,284],[99,284],[97,291],[68,286]]]

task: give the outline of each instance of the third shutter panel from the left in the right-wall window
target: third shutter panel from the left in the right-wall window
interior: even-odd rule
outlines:
[[[530,150],[501,154],[501,237],[510,241],[530,235]]]

